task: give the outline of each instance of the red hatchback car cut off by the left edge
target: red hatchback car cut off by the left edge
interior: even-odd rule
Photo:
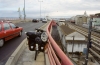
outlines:
[[[5,41],[8,41],[14,37],[22,35],[23,28],[18,27],[12,22],[0,21],[0,47],[2,47]]]

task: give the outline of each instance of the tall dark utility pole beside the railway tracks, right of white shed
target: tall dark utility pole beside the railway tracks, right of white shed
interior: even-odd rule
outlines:
[[[91,46],[91,32],[92,32],[92,18],[89,21],[88,44],[87,44],[87,53],[86,53],[86,58],[85,58],[85,65],[88,64],[89,48]]]

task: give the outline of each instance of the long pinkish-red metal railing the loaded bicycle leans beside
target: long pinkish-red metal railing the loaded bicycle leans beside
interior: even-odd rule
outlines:
[[[48,34],[48,49],[47,54],[49,57],[50,65],[73,65],[71,60],[64,54],[60,49],[57,43],[53,40],[50,32],[52,30],[52,25],[56,23],[52,20],[51,23],[47,26],[46,32]]]

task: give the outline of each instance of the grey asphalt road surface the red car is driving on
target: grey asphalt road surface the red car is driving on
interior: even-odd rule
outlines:
[[[23,27],[23,33],[21,37],[16,37],[12,40],[7,41],[3,47],[0,48],[0,65],[5,65],[6,61],[10,57],[10,55],[15,51],[18,45],[26,38],[25,32],[33,31],[35,28],[39,28],[45,23],[32,23],[32,22],[24,22],[17,23],[17,26]]]

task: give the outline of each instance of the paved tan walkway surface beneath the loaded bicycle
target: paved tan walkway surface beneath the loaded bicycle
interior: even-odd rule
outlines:
[[[40,52],[35,58],[35,51],[30,51],[28,46],[25,48],[21,56],[19,57],[16,65],[44,65],[44,53]]]

